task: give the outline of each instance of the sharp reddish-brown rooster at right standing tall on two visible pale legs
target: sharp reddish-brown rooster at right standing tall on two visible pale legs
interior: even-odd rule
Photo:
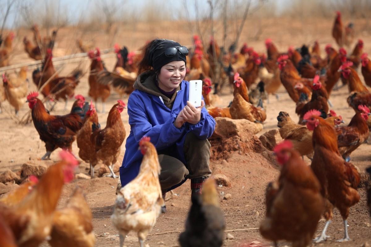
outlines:
[[[344,238],[349,241],[348,222],[349,208],[359,201],[357,187],[360,181],[357,169],[346,162],[340,155],[334,127],[319,117],[317,110],[309,111],[304,121],[309,130],[313,130],[314,156],[312,170],[321,184],[321,194],[325,198],[325,228],[316,242],[326,240],[326,230],[333,217],[333,207],[340,211],[344,221]]]

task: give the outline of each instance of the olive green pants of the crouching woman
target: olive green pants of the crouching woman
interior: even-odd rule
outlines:
[[[161,190],[167,191],[187,178],[209,177],[210,147],[208,140],[201,140],[190,132],[185,137],[183,148],[187,164],[171,156],[175,152],[175,145],[158,151]]]

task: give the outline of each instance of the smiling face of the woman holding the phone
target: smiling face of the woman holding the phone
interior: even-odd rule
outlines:
[[[176,89],[185,77],[185,62],[172,61],[161,67],[158,86],[165,92]]]

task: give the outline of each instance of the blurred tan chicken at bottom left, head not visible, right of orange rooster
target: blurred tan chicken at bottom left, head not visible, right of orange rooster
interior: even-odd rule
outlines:
[[[76,187],[67,205],[57,210],[48,241],[52,247],[93,247],[92,212],[80,187]]]

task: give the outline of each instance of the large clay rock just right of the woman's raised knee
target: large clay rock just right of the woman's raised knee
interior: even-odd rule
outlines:
[[[246,119],[229,119],[227,117],[216,117],[216,126],[210,139],[226,139],[232,136],[251,138],[260,130],[255,123]]]

